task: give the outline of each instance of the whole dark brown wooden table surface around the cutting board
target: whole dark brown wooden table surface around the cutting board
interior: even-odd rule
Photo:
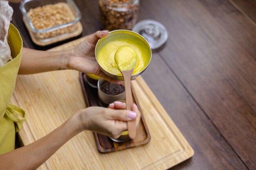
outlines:
[[[75,0],[83,33],[101,29],[96,0]],[[18,4],[12,23],[33,44]],[[141,0],[139,20],[168,29],[143,78],[195,151],[172,170],[256,169],[256,2]]]

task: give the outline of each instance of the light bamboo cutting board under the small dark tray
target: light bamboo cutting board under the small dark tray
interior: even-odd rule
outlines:
[[[51,51],[70,48],[84,39],[63,44]],[[162,170],[192,157],[193,149],[143,78],[137,77],[132,86],[151,135],[148,144],[101,154],[93,133],[84,131],[68,141],[39,169]],[[86,107],[77,71],[19,75],[11,103],[26,110],[27,121],[20,130],[25,145],[47,135],[76,111]]]

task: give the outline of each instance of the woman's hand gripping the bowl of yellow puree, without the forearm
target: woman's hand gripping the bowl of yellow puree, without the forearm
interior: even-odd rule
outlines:
[[[74,47],[70,52],[71,57],[67,63],[67,68],[98,75],[109,82],[120,84],[121,82],[119,80],[111,79],[101,71],[94,55],[98,40],[106,35],[108,35],[108,31],[97,31],[88,36],[81,44]]]

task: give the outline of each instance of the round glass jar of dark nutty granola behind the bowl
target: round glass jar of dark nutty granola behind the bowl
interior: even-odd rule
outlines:
[[[137,22],[139,0],[99,0],[101,24],[110,31],[131,30]]]

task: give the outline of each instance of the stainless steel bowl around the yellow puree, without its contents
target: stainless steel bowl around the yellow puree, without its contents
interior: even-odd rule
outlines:
[[[128,31],[128,30],[115,30],[115,31],[109,32],[106,37],[101,38],[97,42],[96,47],[95,47],[95,56],[96,56],[96,60],[97,60],[97,54],[98,54],[98,52],[99,52],[99,50],[101,49],[102,46],[104,46],[105,44],[107,44],[108,42],[110,42],[114,39],[116,40],[118,38],[123,38],[124,35],[129,36],[130,38],[137,38],[138,40],[141,40],[147,46],[147,49],[145,49],[145,50],[150,51],[150,60],[149,60],[149,62],[147,64],[145,64],[145,68],[141,72],[132,75],[131,79],[134,79],[135,77],[138,77],[139,75],[141,75],[141,73],[143,73],[143,71],[145,71],[145,69],[148,67],[148,64],[150,63],[151,57],[152,57],[152,52],[151,52],[150,46],[148,45],[148,42],[146,41],[146,39],[144,37],[142,37],[138,33],[135,33],[133,31]],[[97,62],[98,62],[98,60],[97,60]],[[98,64],[99,64],[99,62],[98,62]],[[124,80],[124,77],[122,75],[112,74],[112,73],[106,71],[101,66],[101,64],[99,64],[99,66],[100,66],[101,70],[103,71],[103,73],[105,73],[108,77],[110,77],[112,79]]]

